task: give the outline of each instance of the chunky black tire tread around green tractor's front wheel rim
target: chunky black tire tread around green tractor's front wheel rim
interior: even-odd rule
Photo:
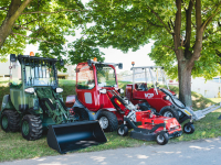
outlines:
[[[29,122],[29,128],[30,128],[30,132],[29,134],[25,136],[22,133],[22,136],[24,139],[27,139],[28,141],[34,141],[38,140],[42,136],[42,121],[40,119],[40,117],[33,116],[33,114],[27,114],[23,117],[22,121],[27,120]],[[22,125],[21,125],[22,128]],[[22,129],[21,129],[22,132]]]

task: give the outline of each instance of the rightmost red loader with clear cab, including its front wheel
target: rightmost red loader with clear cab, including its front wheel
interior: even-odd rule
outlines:
[[[176,98],[176,94],[169,90],[164,68],[160,66],[133,66],[131,70],[133,84],[126,86],[126,97],[134,105],[139,105],[141,110],[149,108],[165,117],[179,120],[179,116],[182,116],[181,111],[175,109],[170,97],[164,92],[164,90],[168,90],[172,98]]]

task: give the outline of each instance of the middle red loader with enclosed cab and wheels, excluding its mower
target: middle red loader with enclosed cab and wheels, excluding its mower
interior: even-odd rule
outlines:
[[[94,62],[76,66],[76,96],[67,96],[66,106],[78,120],[98,120],[104,131],[117,130],[124,112],[113,105],[112,96],[123,94],[118,88],[115,67],[123,65]],[[113,94],[113,95],[110,95]]]

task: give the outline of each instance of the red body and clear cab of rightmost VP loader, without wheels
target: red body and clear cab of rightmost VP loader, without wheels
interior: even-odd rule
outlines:
[[[147,107],[151,107],[158,112],[162,107],[171,106],[167,95],[161,91],[159,86],[161,85],[169,90],[162,67],[133,67],[131,70],[133,84],[126,86],[126,97],[134,105],[146,102]]]

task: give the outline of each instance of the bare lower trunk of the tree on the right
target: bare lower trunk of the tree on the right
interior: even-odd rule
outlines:
[[[189,66],[188,61],[178,61],[178,78],[179,78],[179,99],[187,107],[192,106],[191,99],[191,72],[193,66]]]

